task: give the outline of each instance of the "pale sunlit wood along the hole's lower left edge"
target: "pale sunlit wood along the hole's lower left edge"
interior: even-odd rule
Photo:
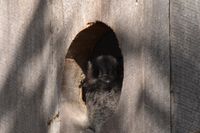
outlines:
[[[74,59],[65,59],[60,104],[60,133],[80,133],[87,125],[87,110],[82,101],[80,81],[83,72]]]

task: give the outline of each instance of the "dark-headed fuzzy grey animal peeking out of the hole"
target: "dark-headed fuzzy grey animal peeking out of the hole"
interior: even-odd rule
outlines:
[[[86,133],[100,133],[102,125],[114,114],[120,94],[119,63],[111,55],[100,55],[88,61],[83,83],[83,100],[88,109]]]

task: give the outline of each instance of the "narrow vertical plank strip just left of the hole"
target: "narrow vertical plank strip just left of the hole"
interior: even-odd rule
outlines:
[[[52,99],[52,108],[49,110],[48,133],[60,133],[61,129],[61,89],[63,66],[65,57],[66,29],[64,27],[64,8],[62,0],[49,0],[49,32],[51,34],[51,83],[48,97]],[[46,97],[45,99],[49,99]]]

